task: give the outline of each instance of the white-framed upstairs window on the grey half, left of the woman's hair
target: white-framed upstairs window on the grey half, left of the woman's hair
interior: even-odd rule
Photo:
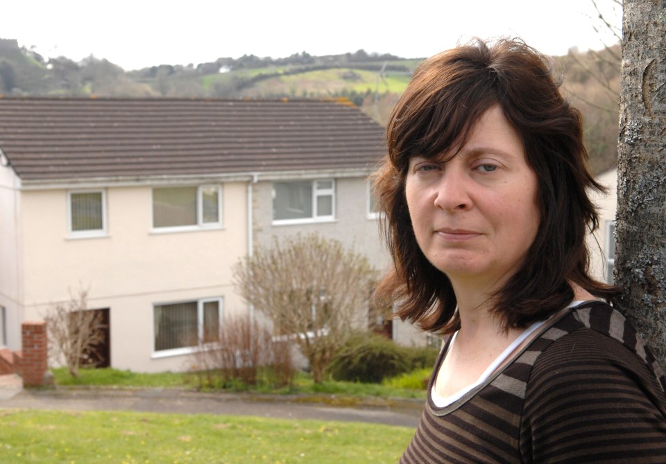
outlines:
[[[273,184],[273,223],[298,224],[334,220],[335,181]]]

